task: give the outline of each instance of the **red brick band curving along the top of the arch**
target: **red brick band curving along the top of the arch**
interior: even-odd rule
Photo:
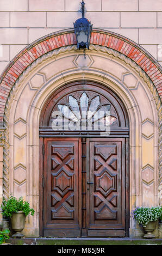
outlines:
[[[9,63],[0,80],[0,123],[3,124],[5,103],[11,88],[22,72],[43,54],[62,46],[77,44],[72,30],[52,33],[24,48]],[[92,32],[91,44],[106,46],[123,53],[138,64],[148,75],[162,97],[162,74],[158,62],[135,42],[113,32],[96,29]]]

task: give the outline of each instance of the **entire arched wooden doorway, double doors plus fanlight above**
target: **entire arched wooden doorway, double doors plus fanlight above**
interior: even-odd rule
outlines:
[[[102,84],[67,84],[48,99],[40,118],[43,236],[128,236],[128,138],[126,109]]]

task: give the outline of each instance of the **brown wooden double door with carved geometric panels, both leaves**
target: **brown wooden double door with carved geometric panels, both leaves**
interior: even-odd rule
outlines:
[[[43,236],[128,236],[128,138],[43,138]]]

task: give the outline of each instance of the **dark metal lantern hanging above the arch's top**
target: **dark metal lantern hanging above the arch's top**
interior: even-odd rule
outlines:
[[[84,17],[85,9],[84,9],[84,0],[82,0],[82,18],[76,20],[74,23],[74,33],[77,37],[77,48],[89,49],[92,25],[91,22]]]

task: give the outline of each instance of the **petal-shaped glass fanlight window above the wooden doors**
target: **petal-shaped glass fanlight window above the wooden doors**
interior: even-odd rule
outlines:
[[[52,126],[59,130],[75,129],[98,130],[110,127],[116,121],[116,117],[110,115],[111,105],[102,105],[99,95],[89,100],[84,92],[77,100],[74,96],[68,96],[68,103],[58,104],[58,111],[52,113]]]

